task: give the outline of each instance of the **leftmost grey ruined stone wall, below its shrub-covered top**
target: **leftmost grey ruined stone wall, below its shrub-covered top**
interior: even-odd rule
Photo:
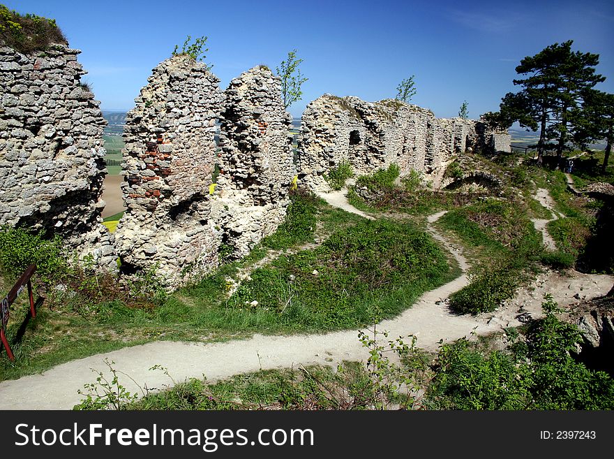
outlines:
[[[105,119],[82,84],[79,50],[0,48],[0,224],[58,234],[114,268],[102,224]]]

